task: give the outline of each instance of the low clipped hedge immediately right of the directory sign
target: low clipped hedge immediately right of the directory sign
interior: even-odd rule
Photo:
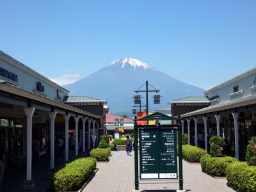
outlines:
[[[200,162],[200,158],[206,154],[205,150],[192,145],[182,145],[182,157],[189,162]]]

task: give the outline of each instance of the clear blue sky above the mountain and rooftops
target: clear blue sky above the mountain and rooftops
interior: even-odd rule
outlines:
[[[0,50],[61,83],[122,57],[210,88],[256,67],[256,1],[2,1]]]

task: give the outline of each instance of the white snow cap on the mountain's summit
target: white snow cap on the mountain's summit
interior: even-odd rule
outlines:
[[[113,66],[120,67],[120,68],[132,68],[133,70],[136,70],[136,68],[140,68],[143,70],[153,69],[153,67],[151,67],[147,63],[144,63],[140,60],[136,60],[134,58],[121,58],[108,65],[108,67],[113,67]]]

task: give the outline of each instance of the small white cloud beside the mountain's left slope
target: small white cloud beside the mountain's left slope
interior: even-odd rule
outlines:
[[[63,86],[65,84],[74,83],[82,78],[83,76],[79,73],[66,73],[61,76],[52,77],[52,78],[50,77],[49,79],[51,79],[51,81],[53,81],[54,83],[57,83]]]

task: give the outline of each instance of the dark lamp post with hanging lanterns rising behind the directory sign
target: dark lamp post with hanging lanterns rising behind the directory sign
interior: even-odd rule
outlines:
[[[146,90],[141,90],[141,88],[146,85]],[[148,90],[148,85],[151,86],[154,90]],[[160,90],[157,90],[156,88],[154,88],[154,86],[152,86],[151,84],[148,83],[148,81],[146,81],[145,84],[143,84],[140,88],[138,88],[137,90],[134,90],[134,92],[136,92],[136,94],[134,95],[134,104],[141,104],[141,96],[138,94],[139,92],[145,92],[146,93],[146,115],[148,116],[148,92],[156,92],[156,94],[154,95],[154,104],[159,104],[160,103],[160,95],[158,94],[158,92],[160,92]],[[134,112],[135,110],[132,109],[132,112]],[[141,109],[140,109],[141,111]],[[148,124],[148,121],[147,121]]]

